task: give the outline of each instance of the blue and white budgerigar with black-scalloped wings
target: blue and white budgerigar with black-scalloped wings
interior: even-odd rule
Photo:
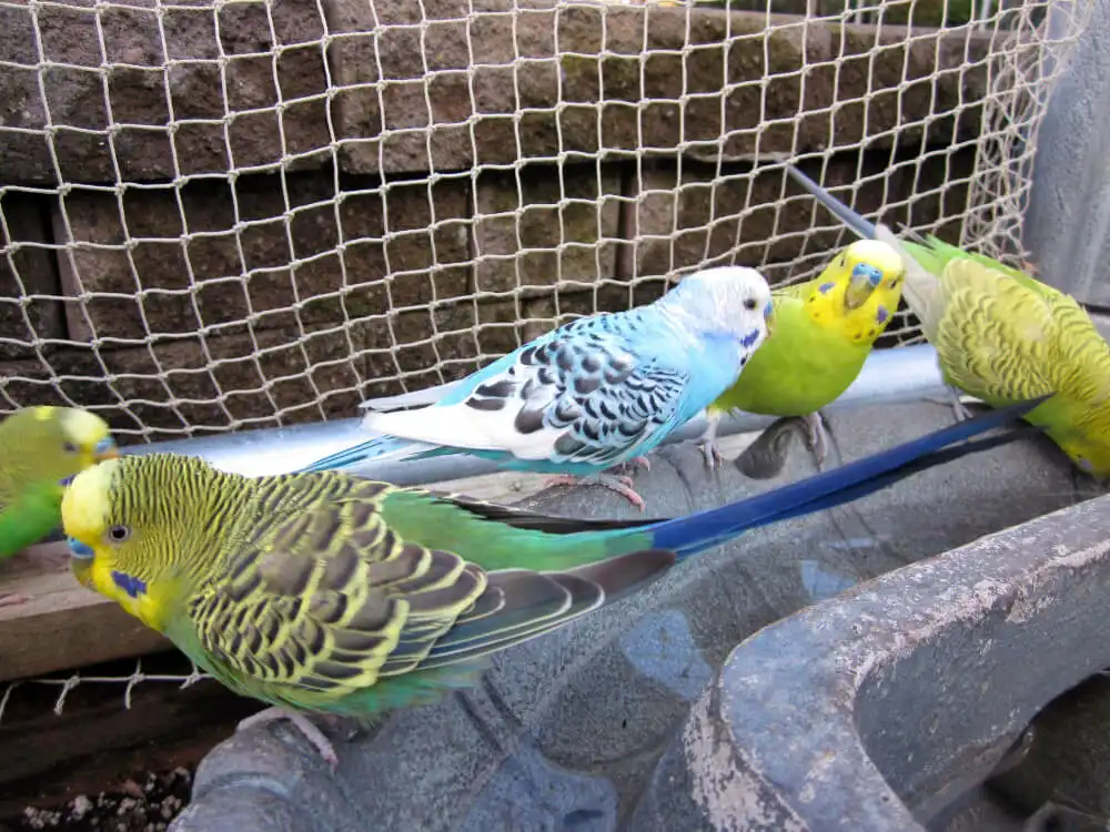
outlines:
[[[723,266],[685,277],[647,306],[579,318],[543,335],[416,410],[366,414],[380,436],[305,471],[365,459],[465,453],[503,467],[589,477],[644,501],[606,468],[643,461],[705,409],[764,343],[770,290],[753,268]],[[398,397],[394,400],[403,400]]]

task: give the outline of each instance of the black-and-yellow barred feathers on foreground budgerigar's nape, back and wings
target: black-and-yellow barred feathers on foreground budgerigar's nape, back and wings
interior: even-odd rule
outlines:
[[[425,671],[473,663],[596,609],[614,588],[675,560],[638,551],[565,572],[486,571],[391,526],[386,499],[418,489],[330,471],[250,479],[176,455],[120,466],[104,522],[139,531],[117,547],[112,568],[143,587],[175,585],[154,601],[168,607],[161,629],[233,690],[297,709],[343,711],[354,707],[344,702],[352,694],[365,703],[369,689],[413,671],[426,679]],[[173,498],[151,499],[151,484],[169,484]],[[455,505],[496,517],[486,534],[501,524],[581,527],[475,500]]]

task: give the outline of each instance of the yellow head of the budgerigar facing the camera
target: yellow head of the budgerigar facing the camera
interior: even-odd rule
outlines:
[[[815,323],[839,331],[852,344],[870,346],[898,308],[905,274],[892,247],[857,240],[809,284],[806,311]]]

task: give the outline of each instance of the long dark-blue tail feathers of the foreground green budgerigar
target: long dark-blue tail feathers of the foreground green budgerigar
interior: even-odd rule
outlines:
[[[672,549],[679,558],[684,558],[724,542],[747,529],[791,517],[801,517],[859,499],[917,471],[1026,435],[1026,432],[1010,432],[1008,435],[981,439],[978,443],[947,447],[1016,422],[1047,398],[1049,397],[1042,396],[1032,402],[988,410],[975,418],[935,430],[918,439],[808,479],[720,508],[665,520],[652,528],[652,546]]]

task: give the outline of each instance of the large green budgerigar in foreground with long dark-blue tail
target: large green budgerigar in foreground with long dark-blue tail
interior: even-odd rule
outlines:
[[[171,454],[78,475],[62,519],[82,585],[276,707],[249,723],[287,717],[334,763],[304,712],[373,719],[472,684],[490,653],[676,560],[1008,442],[961,440],[1028,407],[673,520],[549,517],[335,471],[248,478]]]

